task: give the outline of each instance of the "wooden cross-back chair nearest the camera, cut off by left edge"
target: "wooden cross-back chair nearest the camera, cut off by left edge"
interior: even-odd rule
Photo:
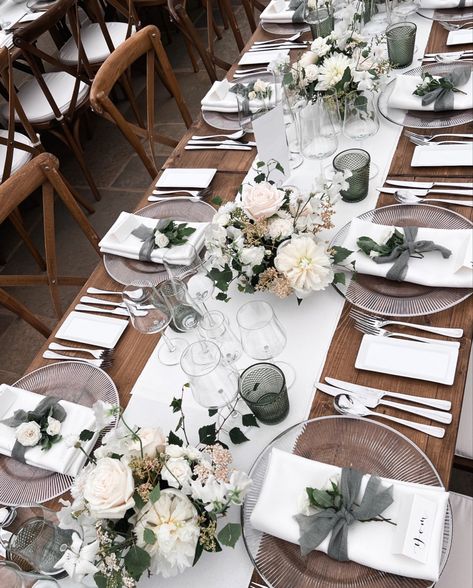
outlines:
[[[50,329],[46,327],[21,302],[7,293],[5,288],[14,286],[46,285],[51,293],[52,303],[58,318],[62,316],[59,295],[60,285],[82,285],[87,278],[78,276],[62,276],[58,273],[56,243],[54,230],[54,196],[63,201],[84,235],[100,255],[99,237],[90,226],[87,218],[69,191],[59,173],[59,162],[50,153],[41,153],[25,164],[15,174],[0,185],[0,223],[8,218],[22,202],[36,190],[42,191],[45,272],[34,275],[5,275],[0,273],[0,304],[26,320],[43,335],[48,336]]]

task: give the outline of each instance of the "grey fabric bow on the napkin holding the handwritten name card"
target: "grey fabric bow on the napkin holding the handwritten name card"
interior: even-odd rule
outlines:
[[[393,503],[392,486],[383,488],[379,478],[370,476],[361,503],[356,504],[362,478],[363,474],[358,470],[343,468],[340,482],[343,505],[340,510],[327,508],[314,515],[296,515],[302,555],[316,549],[332,532],[327,555],[338,561],[348,561],[349,526],[355,521],[369,521],[377,517]]]

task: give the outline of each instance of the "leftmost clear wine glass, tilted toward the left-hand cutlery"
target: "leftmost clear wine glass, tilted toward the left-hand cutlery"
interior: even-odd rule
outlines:
[[[173,318],[172,311],[153,286],[132,284],[123,290],[123,302],[133,327],[146,335],[161,333],[164,340],[158,357],[164,365],[177,365],[187,346],[184,339],[169,339],[164,330]]]

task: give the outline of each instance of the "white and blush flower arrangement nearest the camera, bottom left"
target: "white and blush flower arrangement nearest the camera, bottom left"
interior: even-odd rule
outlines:
[[[174,412],[181,402],[173,400]],[[105,403],[94,409],[105,426],[121,415]],[[135,588],[145,572],[167,578],[204,551],[234,547],[239,525],[218,531],[218,521],[241,505],[251,480],[231,467],[231,453],[214,433],[211,445],[186,446],[175,433],[166,439],[158,428],[130,427],[120,416],[74,480],[72,503],[61,503],[60,527],[74,534],[56,567],[80,583],[93,577],[99,588]]]

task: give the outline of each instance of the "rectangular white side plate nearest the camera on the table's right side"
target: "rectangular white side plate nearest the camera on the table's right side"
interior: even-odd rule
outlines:
[[[451,386],[455,379],[457,360],[458,344],[421,343],[395,337],[364,335],[355,367]]]

